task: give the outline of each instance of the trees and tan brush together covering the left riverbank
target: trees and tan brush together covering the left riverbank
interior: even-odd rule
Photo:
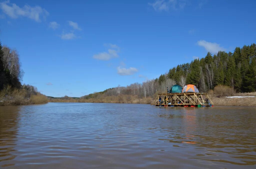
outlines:
[[[0,42],[0,105],[47,103],[36,87],[21,84],[22,77],[18,52]]]

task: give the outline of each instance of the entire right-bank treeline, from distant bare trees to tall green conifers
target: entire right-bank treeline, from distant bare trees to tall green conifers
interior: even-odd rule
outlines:
[[[214,90],[218,85],[233,88],[236,92],[256,91],[256,45],[253,43],[234,52],[210,52],[204,58],[169,69],[159,78],[143,83],[133,83],[126,87],[115,87],[102,92],[94,92],[80,99],[99,99],[104,96],[132,95],[138,99],[154,98],[157,93],[166,93],[166,87],[179,84],[194,84],[200,92]]]

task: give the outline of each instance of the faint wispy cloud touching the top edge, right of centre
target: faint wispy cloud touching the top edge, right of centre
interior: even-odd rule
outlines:
[[[154,3],[148,3],[156,11],[168,11],[169,8],[173,10],[184,9],[186,2],[184,0],[156,0]]]

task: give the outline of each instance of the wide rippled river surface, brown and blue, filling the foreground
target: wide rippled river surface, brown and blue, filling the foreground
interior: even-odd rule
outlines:
[[[255,107],[0,107],[0,168],[256,168]]]

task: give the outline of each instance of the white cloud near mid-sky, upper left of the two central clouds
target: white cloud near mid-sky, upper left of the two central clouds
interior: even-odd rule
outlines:
[[[104,60],[104,61],[108,61],[111,58],[118,57],[119,47],[117,45],[113,45],[113,44],[104,44],[104,46],[106,46],[106,45],[110,46],[111,48],[116,48],[118,50],[108,49],[108,52],[101,52],[101,53],[93,55],[92,57],[94,59],[99,59],[99,60]]]

